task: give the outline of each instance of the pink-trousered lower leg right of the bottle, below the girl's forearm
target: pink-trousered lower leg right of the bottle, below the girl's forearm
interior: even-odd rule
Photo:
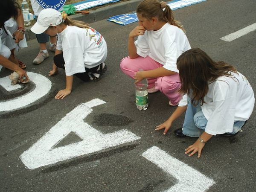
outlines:
[[[159,77],[155,82],[155,88],[159,89],[163,94],[165,94],[172,105],[178,105],[180,102],[182,97],[180,93],[178,93],[180,86],[181,83],[178,73],[172,76]]]

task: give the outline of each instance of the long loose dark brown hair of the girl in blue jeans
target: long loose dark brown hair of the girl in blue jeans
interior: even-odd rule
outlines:
[[[235,67],[224,61],[213,61],[204,51],[199,48],[189,49],[177,59],[179,70],[181,94],[188,94],[193,105],[201,102],[208,93],[208,84],[220,76],[233,77],[230,72],[237,73]]]

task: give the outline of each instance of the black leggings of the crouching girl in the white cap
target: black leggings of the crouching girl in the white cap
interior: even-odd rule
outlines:
[[[64,66],[65,61],[64,61],[64,58],[63,58],[63,53],[55,55],[54,58],[53,58],[53,61],[54,61],[55,65],[57,67],[65,69],[65,66]],[[96,67],[90,68],[90,69],[86,68],[86,67],[84,67],[84,68],[85,68],[84,73],[76,73],[74,75],[77,76],[82,81],[89,81],[90,77],[88,76],[88,73],[89,72],[96,73],[97,69],[99,68],[99,65],[96,66]]]

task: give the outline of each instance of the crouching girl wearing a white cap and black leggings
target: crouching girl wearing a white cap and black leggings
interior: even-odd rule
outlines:
[[[107,44],[102,35],[86,23],[72,20],[64,12],[44,9],[31,31],[35,34],[58,35],[54,64],[49,76],[58,73],[58,67],[66,72],[66,88],[55,99],[64,99],[72,90],[73,75],[82,81],[98,81],[107,70]]]

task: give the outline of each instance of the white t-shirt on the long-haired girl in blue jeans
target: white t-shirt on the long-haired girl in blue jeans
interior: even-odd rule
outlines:
[[[235,121],[249,119],[254,107],[254,93],[248,80],[238,72],[221,76],[208,84],[202,112],[208,120],[205,132],[211,135],[230,133]],[[179,106],[186,106],[186,95]]]

